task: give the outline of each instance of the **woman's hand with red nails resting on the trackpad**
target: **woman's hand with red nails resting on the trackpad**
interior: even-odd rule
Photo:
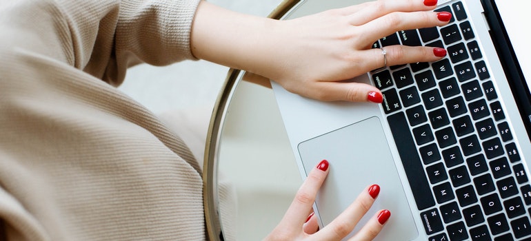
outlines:
[[[371,185],[365,189],[343,213],[317,231],[317,218],[310,213],[327,174],[328,161],[322,160],[310,171],[281,222],[265,240],[341,240],[352,232],[377,198],[380,187]],[[388,210],[377,212],[350,240],[374,239],[390,215]]]

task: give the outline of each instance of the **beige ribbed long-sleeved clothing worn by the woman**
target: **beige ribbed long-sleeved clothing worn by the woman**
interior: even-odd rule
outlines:
[[[115,88],[131,65],[194,59],[198,3],[0,1],[0,235],[206,238],[197,161]]]

